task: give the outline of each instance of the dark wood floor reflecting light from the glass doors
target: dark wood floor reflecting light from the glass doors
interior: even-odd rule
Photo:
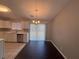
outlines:
[[[51,42],[30,42],[15,59],[64,59]]]

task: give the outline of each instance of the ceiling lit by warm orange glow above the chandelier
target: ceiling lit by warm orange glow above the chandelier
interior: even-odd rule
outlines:
[[[11,9],[10,13],[0,12],[0,19],[32,20],[37,14],[40,20],[50,21],[69,0],[0,0],[0,4]],[[36,12],[35,10],[38,10]]]

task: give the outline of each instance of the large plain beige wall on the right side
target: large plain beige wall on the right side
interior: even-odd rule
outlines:
[[[48,37],[67,59],[79,59],[79,0],[73,0],[49,23]]]

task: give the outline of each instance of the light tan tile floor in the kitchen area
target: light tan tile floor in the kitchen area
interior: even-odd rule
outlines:
[[[14,59],[25,43],[5,43],[5,59]]]

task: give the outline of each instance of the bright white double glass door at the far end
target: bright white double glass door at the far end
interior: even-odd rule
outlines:
[[[45,24],[30,24],[30,41],[45,41]]]

